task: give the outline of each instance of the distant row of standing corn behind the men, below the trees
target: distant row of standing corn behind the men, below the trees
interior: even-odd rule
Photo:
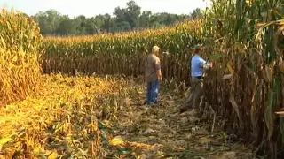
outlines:
[[[144,72],[146,54],[158,45],[166,52],[161,55],[164,77],[188,79],[188,58],[192,46],[200,42],[195,37],[201,34],[200,27],[200,21],[188,21],[138,33],[47,37],[43,42],[43,72],[138,76]]]

